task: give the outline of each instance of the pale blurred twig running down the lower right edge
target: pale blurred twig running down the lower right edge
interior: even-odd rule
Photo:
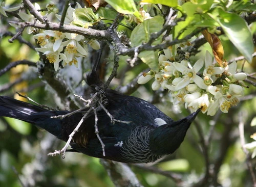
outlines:
[[[243,151],[246,155],[246,165],[247,165],[247,167],[250,171],[251,178],[252,178],[252,181],[253,181],[253,186],[256,187],[256,176],[253,172],[250,154],[249,154],[249,151],[244,147],[245,138],[244,138],[244,122],[243,122],[242,113],[239,114],[239,125],[238,125],[238,127],[239,127],[239,135],[240,135],[241,146],[242,146],[242,149],[243,149]]]

